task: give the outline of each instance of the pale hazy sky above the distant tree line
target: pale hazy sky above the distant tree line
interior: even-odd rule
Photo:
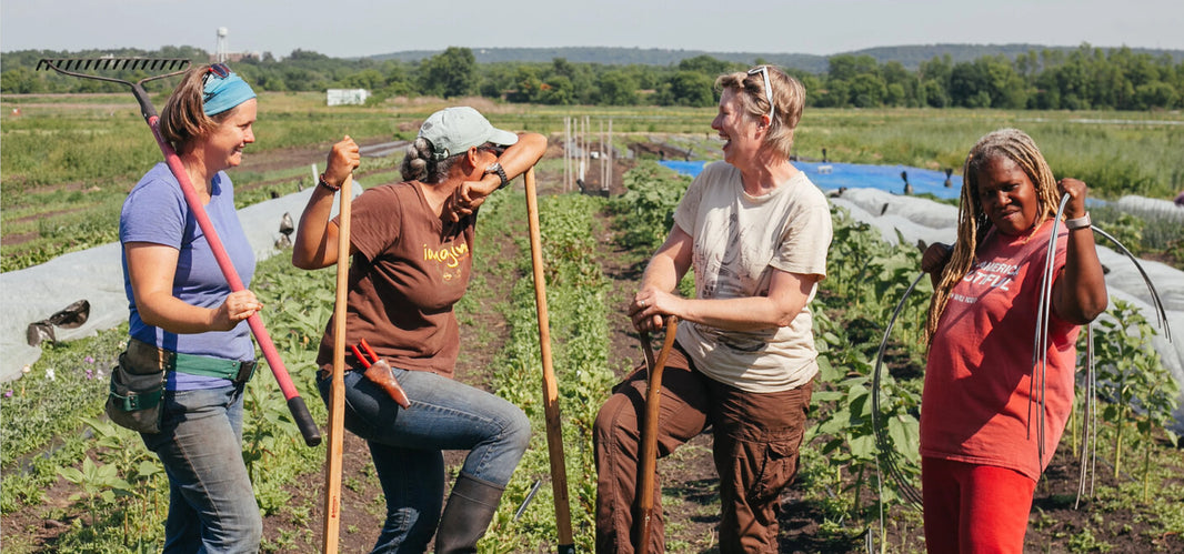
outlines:
[[[1184,50],[1180,0],[0,0],[0,51],[197,46],[363,57],[448,46],[829,56],[1010,44]]]

